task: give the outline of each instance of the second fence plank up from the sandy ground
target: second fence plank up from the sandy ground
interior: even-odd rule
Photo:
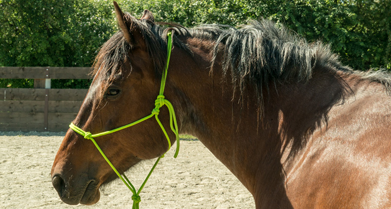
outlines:
[[[69,124],[77,113],[49,113],[49,124]],[[0,123],[44,124],[44,113],[0,112]]]

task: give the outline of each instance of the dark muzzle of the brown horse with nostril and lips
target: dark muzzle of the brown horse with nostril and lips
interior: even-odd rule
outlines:
[[[94,204],[100,199],[99,184],[95,180],[64,180],[60,174],[53,175],[52,184],[58,196],[67,204]]]

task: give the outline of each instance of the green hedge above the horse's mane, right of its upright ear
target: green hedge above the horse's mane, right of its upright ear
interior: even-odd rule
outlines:
[[[121,1],[140,16],[151,10],[156,20],[184,26],[200,23],[246,24],[262,17],[284,24],[308,41],[332,46],[354,69],[391,67],[391,1],[379,0],[172,0]]]

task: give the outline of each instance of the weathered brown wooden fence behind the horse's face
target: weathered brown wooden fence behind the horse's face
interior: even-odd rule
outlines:
[[[51,89],[50,79],[88,79],[89,67],[0,67],[1,79],[34,88],[0,88],[0,131],[66,131],[88,89]]]

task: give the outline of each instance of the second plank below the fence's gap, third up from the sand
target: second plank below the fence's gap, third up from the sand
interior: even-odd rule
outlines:
[[[77,113],[83,101],[49,101],[49,113]],[[44,112],[43,100],[0,100],[0,112]]]

